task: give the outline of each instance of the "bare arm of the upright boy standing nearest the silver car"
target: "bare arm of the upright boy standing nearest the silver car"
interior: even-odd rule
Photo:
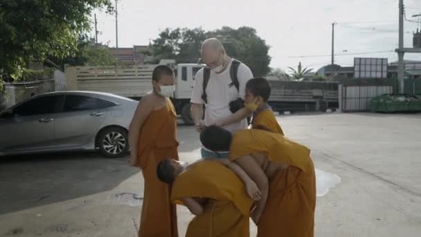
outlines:
[[[130,165],[135,166],[138,154],[137,146],[139,143],[140,132],[143,123],[145,122],[147,116],[154,109],[154,100],[150,96],[145,96],[139,101],[136,112],[132,122],[129,125],[129,147],[130,147]]]

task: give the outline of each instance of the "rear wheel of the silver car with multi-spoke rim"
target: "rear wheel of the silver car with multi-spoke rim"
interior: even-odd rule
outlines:
[[[129,138],[123,128],[107,128],[98,135],[98,146],[105,157],[123,157],[129,151]]]

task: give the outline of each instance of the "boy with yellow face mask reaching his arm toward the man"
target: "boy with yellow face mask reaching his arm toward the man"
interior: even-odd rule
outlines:
[[[270,95],[271,86],[265,78],[253,78],[249,80],[246,84],[244,109],[240,109],[235,114],[218,121],[216,125],[223,126],[235,123],[250,114],[250,112],[253,112],[251,128],[284,134],[276,120],[274,112],[267,104]]]

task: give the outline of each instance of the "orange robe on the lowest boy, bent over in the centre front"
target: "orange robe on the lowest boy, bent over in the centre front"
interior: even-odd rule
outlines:
[[[204,213],[189,223],[186,237],[249,237],[253,200],[240,178],[215,161],[193,164],[175,180],[171,200],[207,198]]]

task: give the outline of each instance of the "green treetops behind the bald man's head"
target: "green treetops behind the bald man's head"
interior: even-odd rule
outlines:
[[[167,28],[152,44],[153,62],[174,58],[177,63],[196,63],[200,58],[201,42],[208,37],[221,40],[226,53],[247,64],[254,76],[266,76],[269,73],[269,46],[250,27],[223,27],[208,32],[201,28]]]

